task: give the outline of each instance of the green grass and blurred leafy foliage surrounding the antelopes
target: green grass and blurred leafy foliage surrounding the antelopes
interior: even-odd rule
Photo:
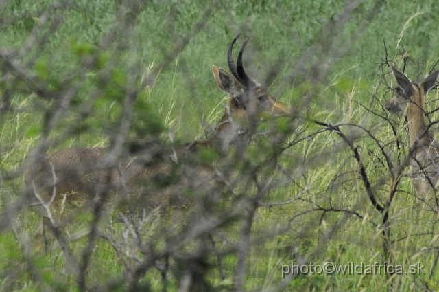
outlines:
[[[45,145],[48,152],[117,143],[114,134],[124,126],[121,120],[127,115],[128,89],[139,89],[132,93],[137,98],[132,100],[131,123],[126,129],[124,145],[128,148],[143,148],[157,140],[170,147],[203,138],[205,131],[219,122],[227,102],[213,78],[212,65],[229,71],[228,45],[242,32],[250,37],[244,56],[248,74],[294,111],[291,119],[281,117],[259,126],[261,131],[274,128],[276,135],[283,137],[281,146],[273,146],[277,136],[261,135],[246,149],[244,158],[236,158],[241,154],[234,146],[226,155],[237,161],[232,168],[236,173],[248,177],[257,173],[262,183],[274,173],[276,182],[260,202],[266,206],[254,214],[254,244],[245,260],[244,288],[281,291],[282,271],[292,262],[384,265],[390,261],[402,265],[404,271],[420,263],[425,274],[300,275],[285,283],[283,291],[439,289],[439,226],[434,199],[420,202],[410,179],[403,178],[390,205],[390,234],[384,237],[383,214],[368,199],[352,150],[336,131],[325,131],[312,122],[344,123],[340,128],[359,150],[375,196],[383,205],[391,179],[377,141],[394,166],[403,161],[409,148],[404,117],[385,119],[388,113],[383,104],[393,94],[385,81],[395,86],[385,61],[401,69],[406,66],[407,76],[415,81],[439,69],[439,1],[365,0],[348,14],[346,23],[340,15],[349,1],[165,0],[139,7],[133,3],[82,0],[66,7],[49,0],[0,3],[3,220],[5,210],[21,196],[23,161],[42,139],[49,141]],[[126,26],[115,25],[117,21]],[[116,37],[111,38],[112,34]],[[112,42],[106,43],[108,40]],[[241,46],[244,41],[238,42]],[[9,61],[5,56],[10,56]],[[21,70],[23,75],[17,73],[20,66],[26,69]],[[27,69],[32,72],[30,78],[25,76]],[[38,92],[43,84],[45,91]],[[305,104],[305,100],[309,102]],[[63,106],[62,115],[52,115]],[[438,107],[438,93],[433,89],[426,110],[433,112]],[[434,111],[428,117],[436,121],[438,114]],[[391,122],[397,133],[392,131]],[[436,128],[432,126],[431,131]],[[220,154],[215,150],[203,149],[198,156],[202,163],[215,164],[220,170],[231,165],[219,162]],[[277,159],[272,166],[267,158],[271,156]],[[169,184],[166,178],[163,181]],[[248,193],[258,192],[257,186],[245,183],[235,187],[234,196],[222,191],[220,203],[212,203],[212,210],[220,212]],[[185,191],[187,196],[196,197],[191,190]],[[171,226],[189,218],[180,213],[185,212],[175,208],[145,223],[142,238],[156,240],[151,250],[158,253],[168,244],[166,232],[185,228]],[[77,218],[66,233],[86,228],[90,217]],[[117,214],[110,216],[115,217]],[[224,237],[235,240],[234,247],[242,229],[242,220],[237,217],[230,216],[222,225]],[[63,275],[62,251],[43,252],[43,240],[34,236],[40,226],[34,212],[20,210],[12,223],[3,223],[10,225],[0,224],[0,291],[82,291],[79,277],[67,271],[67,276]],[[118,224],[122,225],[115,223],[115,229],[123,229]],[[268,239],[263,240],[263,236]],[[69,243],[73,256],[85,257],[87,240],[82,237]],[[223,271],[217,268],[217,258],[209,254],[202,260],[215,266],[208,265],[206,274],[201,274],[211,291],[231,291],[238,256],[226,240],[215,240],[224,253]],[[195,243],[184,247],[188,253],[196,248]],[[128,291],[129,284],[121,280],[123,255],[104,238],[97,239],[92,249],[85,276],[89,291],[93,291],[93,284],[104,283],[106,291]],[[137,252],[139,258],[144,256]],[[178,271],[195,269],[184,259],[170,260],[169,265],[174,273],[167,274],[167,287],[157,268],[141,276],[138,291],[178,291],[185,277]]]

